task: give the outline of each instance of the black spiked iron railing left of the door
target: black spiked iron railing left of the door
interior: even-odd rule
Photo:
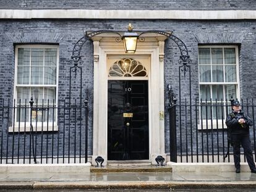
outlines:
[[[1,164],[88,161],[88,99],[0,104]]]

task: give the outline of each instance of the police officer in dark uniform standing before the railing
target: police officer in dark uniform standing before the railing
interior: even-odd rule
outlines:
[[[236,173],[240,173],[240,148],[244,148],[244,154],[252,173],[256,173],[252,148],[250,146],[249,126],[252,125],[250,117],[241,110],[239,101],[231,103],[232,112],[226,119],[226,125],[230,129],[231,143],[233,143],[234,164]]]

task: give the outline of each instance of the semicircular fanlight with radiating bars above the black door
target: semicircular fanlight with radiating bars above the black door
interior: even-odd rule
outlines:
[[[114,62],[108,77],[148,77],[147,70],[137,60],[125,58]]]

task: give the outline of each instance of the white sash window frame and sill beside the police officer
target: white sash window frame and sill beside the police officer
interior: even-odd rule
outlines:
[[[211,66],[211,77],[212,77],[212,61],[211,61],[211,48],[222,48],[223,49],[223,65],[225,65],[224,63],[224,48],[234,48],[235,49],[235,54],[236,54],[236,82],[200,82],[200,71],[199,71],[199,49],[200,48],[210,48],[210,66]],[[223,76],[223,80],[225,80],[225,73]],[[239,79],[239,51],[238,51],[238,46],[235,45],[202,45],[202,46],[198,46],[198,84],[199,84],[199,96],[200,96],[200,85],[236,85],[236,97],[237,99],[240,100],[240,79]],[[212,88],[210,89],[211,91],[211,98],[212,98]],[[225,93],[223,90],[223,97],[225,97]],[[229,102],[229,98],[223,98],[223,104],[226,104],[226,99],[228,99]],[[236,99],[236,98],[234,98]],[[199,98],[199,104],[200,104],[201,98]],[[202,101],[203,102],[203,101]],[[215,101],[212,101],[212,103]],[[217,101],[217,102],[221,102],[221,101]],[[205,103],[205,101],[203,102]],[[210,101],[207,101],[207,103],[210,103]],[[229,104],[229,103],[228,103]],[[204,107],[204,106],[203,106]],[[226,127],[226,123],[225,123],[225,119],[226,119],[226,107],[224,107],[224,126],[223,126],[223,122],[222,119],[213,119],[213,122],[211,123],[211,119],[201,119],[201,107],[199,105],[199,122],[198,122],[198,130],[210,130],[211,127],[213,129],[216,129],[218,127],[218,129],[220,128],[227,128]],[[218,126],[217,126],[217,122],[218,122]],[[203,127],[203,128],[202,128]]]

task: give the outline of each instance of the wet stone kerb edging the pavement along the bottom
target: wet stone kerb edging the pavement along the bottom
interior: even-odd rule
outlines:
[[[256,188],[256,182],[0,182],[0,190]]]

